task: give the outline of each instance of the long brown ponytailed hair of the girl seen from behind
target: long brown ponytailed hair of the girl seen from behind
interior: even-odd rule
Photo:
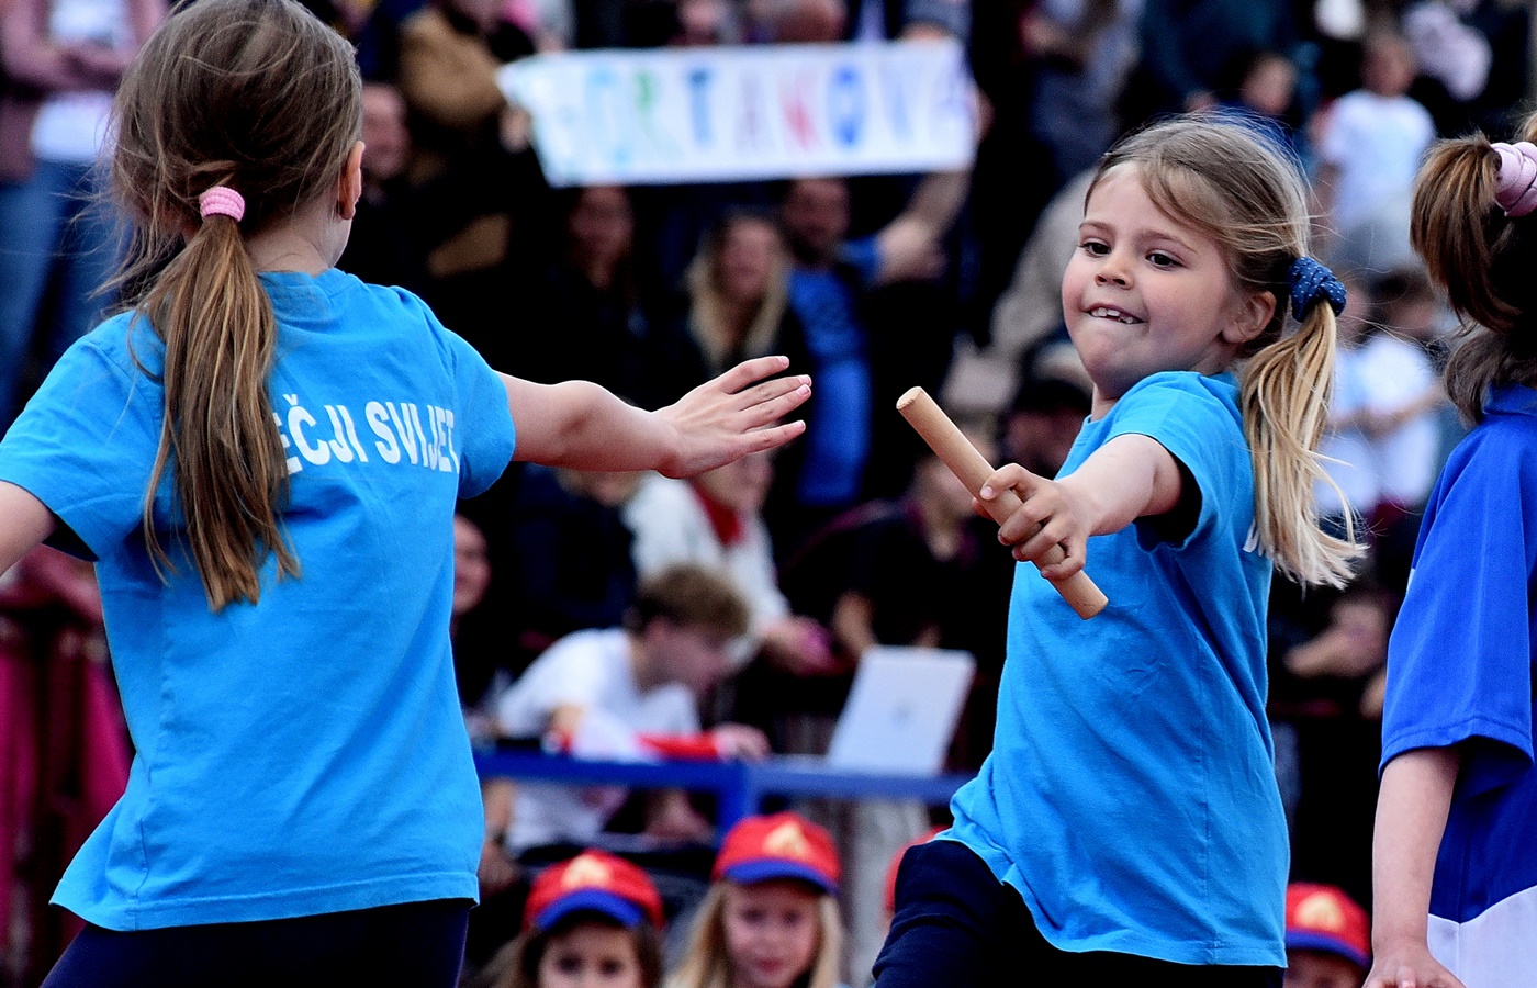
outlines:
[[[298,559],[267,396],[277,321],[243,234],[335,187],[361,131],[361,80],[347,43],[292,0],[200,0],[149,38],[112,117],[112,192],[134,224],[117,281],[166,350],[144,539],[174,570],[152,516],[169,470],[209,607],[255,602],[267,556],[280,576],[297,576]],[[244,197],[238,223],[198,215],[220,184]]]

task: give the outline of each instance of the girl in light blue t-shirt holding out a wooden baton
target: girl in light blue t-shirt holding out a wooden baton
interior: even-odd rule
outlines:
[[[1016,572],[994,750],[905,856],[879,988],[1280,983],[1265,607],[1273,565],[1340,582],[1354,552],[1311,499],[1343,301],[1263,137],[1180,118],[1100,161],[1062,281],[1090,418],[1057,479],[982,489],[1024,501],[1016,558],[1067,558]],[[1093,621],[1047,582],[1085,556]]]

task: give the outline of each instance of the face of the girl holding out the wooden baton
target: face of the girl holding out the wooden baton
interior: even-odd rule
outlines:
[[[1268,292],[1237,287],[1216,238],[1153,203],[1137,166],[1100,177],[1062,278],[1067,329],[1094,381],[1094,418],[1159,370],[1225,370],[1274,307]]]

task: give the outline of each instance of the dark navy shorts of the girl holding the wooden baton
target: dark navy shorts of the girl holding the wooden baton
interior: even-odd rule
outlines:
[[[1280,988],[1280,968],[1191,966],[1113,951],[1057,950],[1011,887],[971,848],[930,840],[907,851],[896,876],[891,933],[875,962],[875,988],[1134,985]]]

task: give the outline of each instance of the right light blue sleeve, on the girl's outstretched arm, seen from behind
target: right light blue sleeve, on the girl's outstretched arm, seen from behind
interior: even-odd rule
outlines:
[[[458,421],[453,429],[460,438],[460,496],[473,498],[496,482],[516,447],[507,389],[475,347],[446,329],[426,303],[417,300],[417,304],[423,307],[427,324],[438,337],[453,375],[458,395]]]

